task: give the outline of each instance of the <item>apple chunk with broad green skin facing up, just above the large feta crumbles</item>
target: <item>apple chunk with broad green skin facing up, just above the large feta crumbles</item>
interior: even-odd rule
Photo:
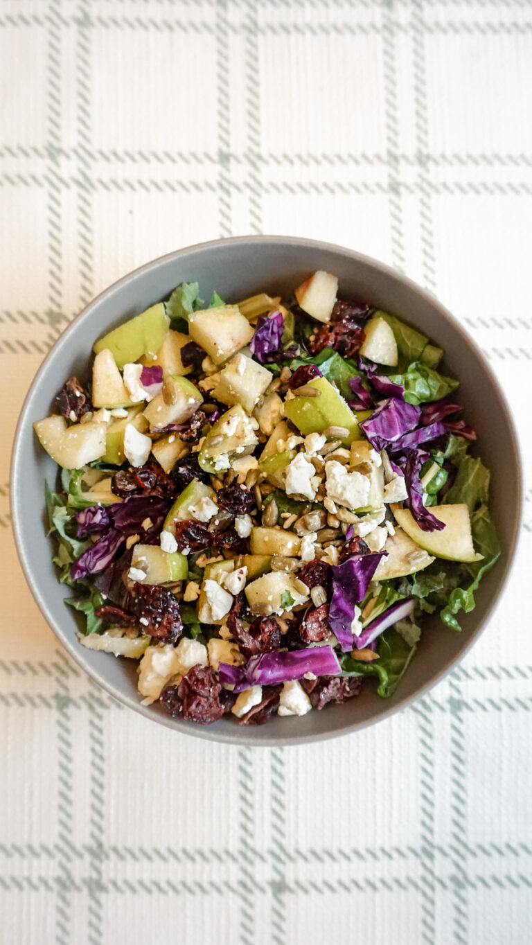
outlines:
[[[347,437],[342,439],[345,446],[349,446],[353,439],[362,438],[362,431],[352,410],[326,377],[315,377],[305,387],[315,387],[319,391],[318,396],[301,397],[299,394],[293,400],[284,402],[284,413],[303,436],[323,433],[328,426],[344,426],[349,431]]]

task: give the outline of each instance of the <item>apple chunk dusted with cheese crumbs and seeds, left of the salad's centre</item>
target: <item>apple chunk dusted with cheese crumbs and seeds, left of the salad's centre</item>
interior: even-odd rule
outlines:
[[[249,417],[240,404],[232,407],[217,420],[204,439],[197,460],[205,472],[223,472],[232,459],[252,453],[259,442],[255,430],[259,424]]]

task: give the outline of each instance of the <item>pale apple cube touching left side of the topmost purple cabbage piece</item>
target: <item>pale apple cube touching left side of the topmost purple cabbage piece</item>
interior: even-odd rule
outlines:
[[[188,319],[193,341],[201,345],[215,364],[222,364],[232,354],[249,344],[254,335],[248,318],[236,305],[219,305],[193,312]]]

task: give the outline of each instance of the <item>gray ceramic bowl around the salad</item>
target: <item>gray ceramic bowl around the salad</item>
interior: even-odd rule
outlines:
[[[197,281],[207,299],[214,289],[229,301],[263,290],[289,297],[318,268],[337,275],[341,294],[397,314],[445,349],[444,367],[461,381],[460,399],[491,470],[491,508],[503,553],[476,595],[476,609],[463,615],[461,633],[443,627],[438,616],[427,619],[419,651],[391,699],[381,699],[366,684],[362,696],[302,718],[274,717],[266,726],[247,728],[231,717],[203,729],[172,719],[159,705],[141,706],[136,663],[91,652],[77,643],[77,613],[63,603],[66,589],[58,582],[43,525],[44,480],[54,482],[57,467],[34,437],[32,423],[50,410],[65,377],[87,378],[91,349],[99,335],[165,298],[183,280]],[[112,696],[146,718],[201,738],[240,745],[294,744],[361,729],[434,685],[469,648],[497,602],[514,554],[522,507],[520,459],[504,398],[455,319],[417,285],[380,263],[349,249],[286,236],[238,237],[180,249],[142,266],[91,302],[60,336],[27,395],[15,439],[11,484],[15,537],[29,587],[71,657]]]

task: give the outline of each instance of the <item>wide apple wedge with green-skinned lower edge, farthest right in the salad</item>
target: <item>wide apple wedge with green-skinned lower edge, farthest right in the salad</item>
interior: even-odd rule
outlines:
[[[475,553],[473,547],[467,505],[431,506],[430,510],[439,522],[445,524],[441,531],[423,531],[407,508],[394,507],[393,514],[403,531],[429,555],[449,561],[479,561],[483,558]]]

